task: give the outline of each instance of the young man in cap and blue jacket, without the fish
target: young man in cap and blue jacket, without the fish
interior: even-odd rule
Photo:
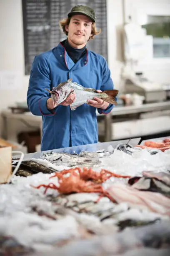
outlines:
[[[86,49],[87,41],[100,33],[96,31],[95,19],[92,8],[85,5],[73,7],[68,18],[60,22],[67,40],[36,56],[33,61],[27,102],[32,114],[42,115],[42,151],[97,143],[96,108],[100,114],[107,114],[113,108],[113,105],[94,98],[72,111],[69,105],[75,100],[74,93],[55,106],[45,90],[70,78],[97,92],[113,89],[105,59]]]

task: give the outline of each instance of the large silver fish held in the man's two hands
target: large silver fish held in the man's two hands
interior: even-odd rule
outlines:
[[[75,110],[82,104],[87,103],[87,100],[92,100],[94,97],[100,98],[113,105],[117,104],[115,97],[118,94],[118,90],[96,92],[93,88],[86,88],[76,82],[72,82],[72,78],[58,84],[57,87],[53,87],[52,91],[48,89],[45,90],[51,93],[55,105],[59,105],[71,93],[75,93],[75,101],[70,105],[71,110]]]

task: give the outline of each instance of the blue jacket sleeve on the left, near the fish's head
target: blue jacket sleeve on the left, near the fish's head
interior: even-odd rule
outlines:
[[[51,90],[50,69],[47,59],[42,56],[36,56],[30,72],[30,80],[27,92],[27,104],[30,112],[34,115],[54,115],[57,107],[48,110],[46,107],[47,99],[50,98]]]

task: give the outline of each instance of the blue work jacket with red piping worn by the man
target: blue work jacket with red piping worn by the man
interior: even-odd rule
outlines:
[[[74,63],[62,44],[35,56],[30,72],[27,103],[32,114],[42,115],[42,151],[98,141],[96,108],[83,104],[74,111],[62,105],[48,110],[46,103],[50,93],[45,88],[52,90],[72,78],[72,82],[84,87],[113,89],[110,69],[100,54],[86,49],[86,54]],[[107,114],[112,108],[110,104],[106,110],[97,110]]]

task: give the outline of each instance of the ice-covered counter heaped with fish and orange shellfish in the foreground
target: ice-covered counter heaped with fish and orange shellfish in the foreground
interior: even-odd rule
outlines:
[[[139,141],[26,154],[0,184],[0,255],[169,256],[170,138]]]

